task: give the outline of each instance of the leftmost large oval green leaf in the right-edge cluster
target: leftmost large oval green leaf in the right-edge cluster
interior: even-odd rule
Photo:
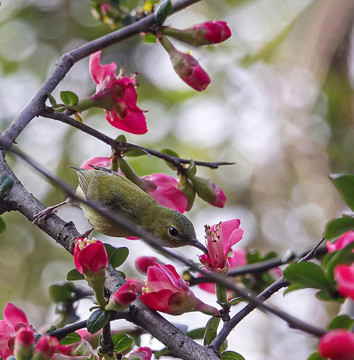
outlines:
[[[284,278],[290,283],[315,289],[327,289],[328,280],[322,268],[312,262],[290,264],[283,271]]]

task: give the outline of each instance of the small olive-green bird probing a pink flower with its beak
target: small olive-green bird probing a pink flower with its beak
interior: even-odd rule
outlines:
[[[92,170],[74,168],[79,177],[77,195],[96,201],[102,209],[112,210],[149,231],[166,247],[194,246],[206,254],[189,219],[176,210],[161,206],[149,194],[118,173],[100,167]],[[134,236],[122,226],[107,219],[86,204],[78,204],[90,225],[98,232],[113,236]]]

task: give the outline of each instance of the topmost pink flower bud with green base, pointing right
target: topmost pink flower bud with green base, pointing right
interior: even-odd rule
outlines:
[[[194,46],[218,44],[231,36],[227,23],[220,20],[206,21],[184,30],[165,27],[161,32]]]

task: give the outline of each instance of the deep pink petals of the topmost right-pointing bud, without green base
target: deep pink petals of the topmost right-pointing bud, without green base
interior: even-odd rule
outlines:
[[[226,21],[212,20],[192,26],[192,29],[202,35],[208,42],[206,44],[218,44],[231,36],[231,30]]]

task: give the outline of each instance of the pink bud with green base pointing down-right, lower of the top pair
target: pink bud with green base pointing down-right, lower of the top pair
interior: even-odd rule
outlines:
[[[203,91],[210,84],[210,77],[199,65],[198,61],[190,54],[182,53],[162,36],[161,44],[170,55],[170,59],[177,75],[191,88]]]

